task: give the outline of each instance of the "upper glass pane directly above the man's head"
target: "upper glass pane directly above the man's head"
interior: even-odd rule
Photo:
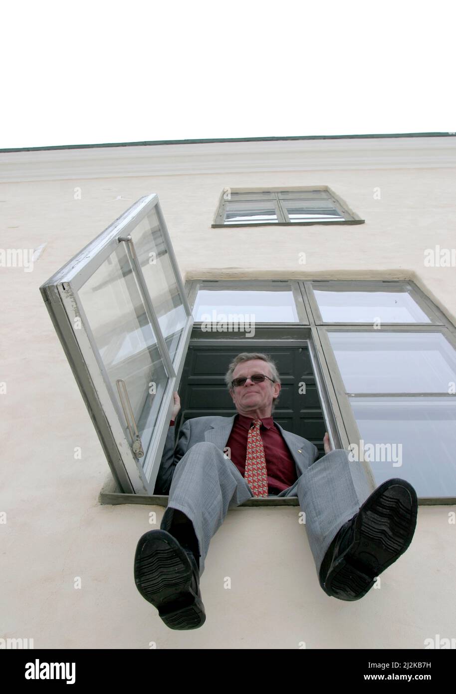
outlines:
[[[193,306],[195,321],[222,321],[223,317],[249,316],[256,323],[295,323],[299,321],[295,298],[288,291],[236,291],[200,289]]]

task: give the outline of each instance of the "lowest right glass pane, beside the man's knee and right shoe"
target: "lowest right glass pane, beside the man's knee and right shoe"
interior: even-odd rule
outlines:
[[[418,496],[456,496],[456,398],[349,400],[377,484],[401,477]]]

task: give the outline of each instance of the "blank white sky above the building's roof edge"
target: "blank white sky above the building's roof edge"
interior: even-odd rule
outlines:
[[[447,0],[3,3],[0,148],[456,131],[455,19]]]

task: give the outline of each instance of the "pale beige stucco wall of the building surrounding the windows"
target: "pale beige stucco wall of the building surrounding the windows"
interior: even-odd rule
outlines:
[[[454,142],[446,138],[453,159]],[[384,147],[394,152],[396,144],[388,140]],[[245,148],[237,164],[233,147],[225,148],[234,152],[226,171],[220,170],[223,152],[211,171],[209,145],[180,147],[194,148],[195,173],[188,171],[190,158],[180,173],[163,167],[163,175],[134,176],[133,166],[116,165],[121,160],[114,152],[110,175],[99,178],[94,162],[106,155],[103,149],[92,151],[86,164],[78,151],[53,152],[51,161],[46,152],[26,153],[20,171],[11,162],[23,153],[0,153],[1,248],[46,244],[33,271],[0,267],[0,381],[7,387],[0,396],[0,512],[6,514],[0,638],[33,638],[35,648],[150,648],[150,642],[157,648],[299,648],[304,641],[306,648],[416,649],[436,634],[455,638],[456,526],[448,522],[454,506],[419,507],[410,548],[381,575],[380,589],[354,603],[328,598],[319,587],[299,507],[229,511],[201,579],[207,612],[201,629],[167,629],[137,592],[136,543],[159,527],[164,509],[98,504],[109,468],[38,290],[137,198],[159,195],[184,280],[410,278],[456,323],[456,268],[423,264],[426,248],[456,245],[456,164],[447,152],[442,167],[419,156],[411,167],[417,151],[411,149],[403,167],[402,160],[391,168],[383,160],[376,168],[372,158],[337,169],[337,156],[328,164],[322,145],[326,169],[317,168],[313,149],[310,170],[305,152],[297,161],[291,147],[281,150],[277,164],[271,144],[263,158],[268,171],[264,163],[249,170]],[[122,149],[119,156],[128,149],[132,158],[138,150]],[[149,152],[141,164],[158,156],[153,147],[140,149]],[[67,164],[74,156],[78,176],[59,170],[59,156]],[[435,157],[438,163],[438,152]],[[351,161],[348,145],[343,158]],[[290,185],[328,185],[365,224],[211,228],[225,186]],[[298,262],[303,251],[305,266]],[[82,459],[73,457],[77,446]],[[150,511],[156,525],[149,523]],[[231,589],[224,588],[227,576]],[[81,589],[73,587],[76,577]]]

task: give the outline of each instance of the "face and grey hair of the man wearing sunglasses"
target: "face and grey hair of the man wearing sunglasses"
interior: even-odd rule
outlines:
[[[247,378],[256,373],[263,373],[272,378],[269,364],[263,359],[250,359],[249,362],[242,362],[236,366],[233,373],[235,378]],[[265,378],[263,383],[252,383],[249,379],[243,386],[231,389],[231,398],[240,414],[249,416],[254,414],[259,417],[270,417],[272,413],[272,400],[277,398],[281,386],[279,383],[272,383]]]

